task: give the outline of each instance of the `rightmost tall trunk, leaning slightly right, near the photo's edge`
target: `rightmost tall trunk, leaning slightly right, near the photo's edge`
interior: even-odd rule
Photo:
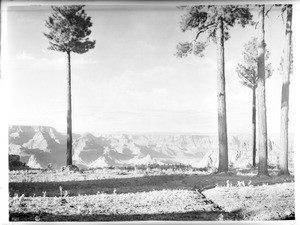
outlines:
[[[285,33],[284,72],[282,75],[281,92],[281,127],[280,127],[280,161],[278,175],[289,175],[288,169],[288,123],[289,123],[289,89],[292,47],[292,5],[287,5],[287,20]]]

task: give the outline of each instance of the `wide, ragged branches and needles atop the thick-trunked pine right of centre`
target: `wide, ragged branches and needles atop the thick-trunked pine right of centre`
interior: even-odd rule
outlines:
[[[203,57],[203,51],[209,41],[216,43],[216,31],[218,24],[222,19],[224,27],[224,39],[230,38],[229,29],[235,24],[242,27],[251,23],[252,14],[247,6],[239,5],[199,5],[199,6],[181,6],[185,11],[181,17],[180,27],[183,32],[195,30],[195,38],[189,42],[179,43],[177,45],[176,56],[185,57],[194,54]],[[207,34],[205,41],[200,41],[199,36],[202,33]]]

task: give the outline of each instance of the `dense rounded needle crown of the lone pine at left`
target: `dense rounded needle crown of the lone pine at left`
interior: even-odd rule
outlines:
[[[83,5],[52,6],[53,13],[46,21],[50,50],[60,52],[85,53],[95,47],[91,41],[91,17],[87,16]]]

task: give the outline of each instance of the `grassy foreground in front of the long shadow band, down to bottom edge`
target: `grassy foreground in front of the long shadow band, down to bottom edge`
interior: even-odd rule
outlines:
[[[160,190],[59,197],[14,196],[10,220],[280,220],[294,219],[294,184],[244,185],[206,190]]]

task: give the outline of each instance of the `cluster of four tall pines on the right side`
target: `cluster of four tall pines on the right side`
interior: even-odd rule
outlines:
[[[289,84],[292,64],[292,5],[273,5],[281,8],[281,13],[286,14],[285,26],[285,55],[283,59],[283,83],[281,97],[281,128],[280,128],[280,163],[278,175],[289,175],[288,170],[288,111],[289,111]],[[273,7],[272,6],[272,7]],[[266,50],[265,18],[272,9],[266,11],[265,5],[255,5],[258,9],[258,21],[253,21],[249,5],[200,5],[183,6],[184,15],[181,18],[181,29],[195,30],[194,40],[179,43],[177,56],[184,57],[195,54],[203,57],[203,51],[210,40],[217,48],[217,100],[218,100],[218,135],[219,135],[219,172],[228,171],[228,141],[226,121],[226,91],[225,91],[225,58],[224,42],[230,38],[229,28],[240,24],[255,25],[257,37],[245,45],[243,52],[244,64],[237,66],[237,73],[242,84],[252,89],[252,151],[253,166],[256,166],[256,139],[258,141],[259,163],[258,176],[268,176],[268,147],[267,147],[267,114],[266,114],[266,87],[265,80],[271,76],[271,65],[266,65],[269,52]],[[253,8],[253,7],[252,7]],[[206,41],[199,41],[199,36],[206,33]],[[257,103],[256,103],[257,89]],[[256,137],[256,107],[257,128]]]

